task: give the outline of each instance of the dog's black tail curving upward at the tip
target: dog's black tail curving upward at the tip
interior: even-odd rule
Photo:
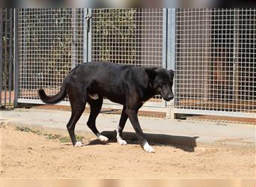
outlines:
[[[63,83],[63,85],[61,86],[61,91],[59,91],[59,93],[54,96],[47,96],[42,88],[38,90],[38,94],[43,102],[47,104],[55,104],[57,102],[60,102],[65,98],[65,96],[67,96],[66,85]]]

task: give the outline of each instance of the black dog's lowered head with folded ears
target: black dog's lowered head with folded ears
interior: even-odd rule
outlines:
[[[150,67],[145,69],[150,79],[153,90],[162,96],[165,101],[174,98],[172,85],[174,80],[174,71],[163,68]]]

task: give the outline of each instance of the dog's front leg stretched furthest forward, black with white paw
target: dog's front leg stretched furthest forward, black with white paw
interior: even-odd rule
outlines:
[[[132,123],[133,128],[135,129],[136,135],[138,137],[138,141],[141,142],[141,146],[148,153],[154,153],[153,147],[151,147],[147,140],[144,138],[144,133],[142,132],[141,126],[138,123],[138,111],[135,109],[126,109],[126,113],[129,117],[130,122]]]

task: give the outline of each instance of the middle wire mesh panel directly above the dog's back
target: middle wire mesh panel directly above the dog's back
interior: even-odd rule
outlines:
[[[93,9],[91,40],[92,61],[162,67],[162,9]]]

